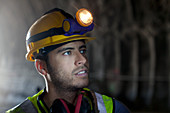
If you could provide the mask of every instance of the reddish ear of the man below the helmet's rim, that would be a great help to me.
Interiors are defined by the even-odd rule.
[[[45,61],[40,60],[40,59],[36,59],[35,60],[35,67],[41,75],[47,75],[47,66],[46,66]]]

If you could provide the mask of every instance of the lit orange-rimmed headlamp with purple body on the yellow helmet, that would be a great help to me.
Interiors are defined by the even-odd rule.
[[[87,9],[79,9],[75,19],[65,19],[63,21],[63,29],[65,35],[84,34],[93,30],[93,16]]]

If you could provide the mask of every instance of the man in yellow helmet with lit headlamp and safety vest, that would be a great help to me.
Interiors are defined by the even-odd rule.
[[[117,100],[86,88],[86,43],[94,38],[84,34],[93,26],[86,9],[80,9],[74,19],[56,8],[30,27],[26,59],[35,62],[46,87],[7,113],[129,113]]]

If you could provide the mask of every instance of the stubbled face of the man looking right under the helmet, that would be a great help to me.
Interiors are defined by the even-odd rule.
[[[57,89],[77,90],[88,86],[89,64],[84,42],[70,42],[51,51],[47,68]]]

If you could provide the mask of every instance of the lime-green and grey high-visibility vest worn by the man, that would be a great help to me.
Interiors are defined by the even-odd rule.
[[[43,90],[34,95],[33,97],[28,97],[23,103],[18,106],[8,110],[6,113],[42,113],[38,107],[37,98],[41,95]],[[113,99],[106,95],[101,95],[99,93],[94,93],[97,100],[97,108],[99,113],[113,113]],[[44,107],[45,108],[45,107]],[[45,110],[46,111],[46,110]],[[48,111],[47,111],[48,113]]]

